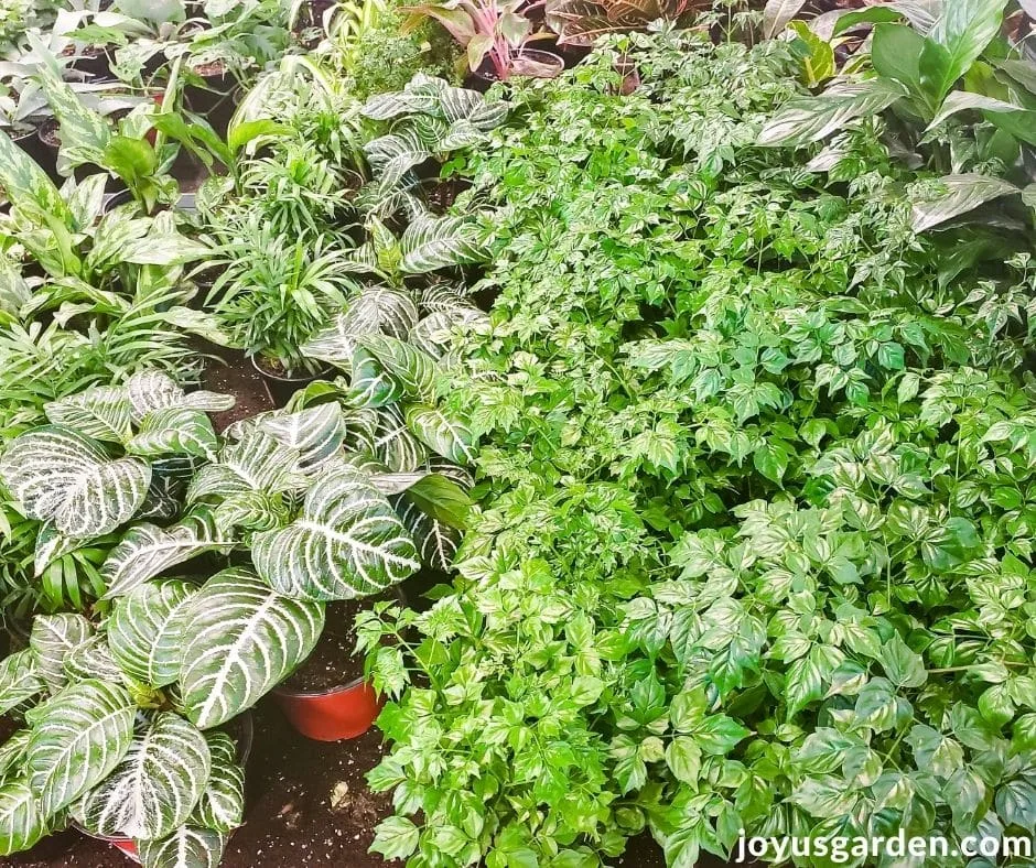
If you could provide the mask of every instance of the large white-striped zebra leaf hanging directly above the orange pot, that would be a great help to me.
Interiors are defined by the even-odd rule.
[[[413,540],[385,495],[348,466],[313,486],[298,521],[257,534],[252,561],[280,593],[316,600],[366,597],[420,568]]]

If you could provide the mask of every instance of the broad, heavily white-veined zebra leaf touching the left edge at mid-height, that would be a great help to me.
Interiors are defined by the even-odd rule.
[[[11,443],[0,459],[0,478],[29,518],[87,539],[133,517],[148,493],[151,468],[137,458],[111,460],[82,434],[45,425]]]

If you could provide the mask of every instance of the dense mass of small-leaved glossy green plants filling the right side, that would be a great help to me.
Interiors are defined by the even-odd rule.
[[[377,848],[1029,833],[1032,231],[915,231],[877,117],[823,167],[759,148],[801,93],[780,43],[618,51],[636,94],[608,51],[518,87],[468,169],[501,206],[451,391],[484,507],[455,588],[365,627],[416,628],[421,673]]]

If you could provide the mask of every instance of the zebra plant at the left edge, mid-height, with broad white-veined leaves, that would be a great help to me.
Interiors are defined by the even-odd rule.
[[[14,438],[0,457],[14,506],[41,523],[36,574],[134,517],[168,517],[171,476],[215,456],[206,413],[233,404],[228,395],[186,393],[159,371],[47,404],[51,424]]]

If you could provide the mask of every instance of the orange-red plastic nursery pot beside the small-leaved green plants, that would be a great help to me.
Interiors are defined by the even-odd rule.
[[[402,589],[397,587],[395,592],[399,601],[406,606],[407,597]],[[359,738],[374,726],[385,704],[363,676],[327,691],[274,687],[272,695],[289,723],[314,741]]]

